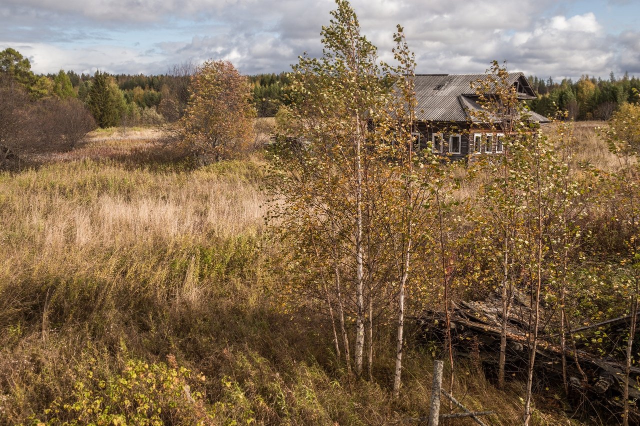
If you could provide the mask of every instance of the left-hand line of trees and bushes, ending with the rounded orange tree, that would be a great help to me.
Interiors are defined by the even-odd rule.
[[[126,130],[138,123],[161,127],[163,141],[180,155],[226,158],[262,145],[268,134],[253,120],[252,89],[228,61],[186,61],[161,76],[100,70],[92,77],[63,70],[47,76],[33,74],[27,58],[5,49],[0,52],[2,158],[73,149],[96,126]]]

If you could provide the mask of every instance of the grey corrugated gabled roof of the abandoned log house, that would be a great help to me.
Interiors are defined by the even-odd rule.
[[[472,83],[486,79],[486,74],[416,74],[414,79],[417,119],[429,122],[467,122],[469,110],[480,109]],[[522,72],[509,74],[518,99],[534,99],[536,94]],[[541,123],[547,118],[531,112],[531,120]],[[474,120],[475,121],[475,120]]]

